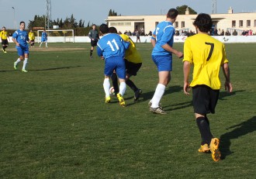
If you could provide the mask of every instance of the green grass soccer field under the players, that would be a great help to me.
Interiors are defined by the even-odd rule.
[[[178,50],[182,43],[176,43]],[[105,104],[104,61],[88,59],[89,43],[30,49],[29,73],[13,70],[14,44],[0,52],[0,178],[255,178],[255,43],[226,44],[234,92],[223,88],[209,115],[223,159],[199,153],[199,130],[183,94],[182,60],[175,57],[161,103],[149,112],[157,85],[150,43],[137,43],[144,64],[126,89],[126,108]],[[221,71],[222,72],[222,71]],[[223,82],[223,74],[220,74]]]

